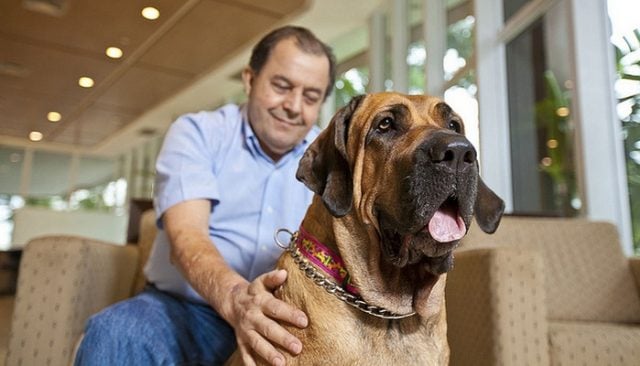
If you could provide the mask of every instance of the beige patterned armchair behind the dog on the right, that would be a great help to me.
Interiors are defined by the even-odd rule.
[[[639,287],[614,225],[472,227],[447,279],[451,365],[640,365]]]

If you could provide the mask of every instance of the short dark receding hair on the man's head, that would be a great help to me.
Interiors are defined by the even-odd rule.
[[[260,73],[262,67],[269,59],[271,50],[273,50],[280,41],[289,38],[295,38],[298,48],[306,53],[313,55],[324,54],[327,56],[329,60],[329,85],[327,85],[324,93],[326,99],[333,91],[333,84],[336,81],[336,57],[333,55],[331,47],[316,38],[307,28],[287,25],[271,31],[253,47],[251,58],[249,59],[249,67],[251,67],[256,74]]]

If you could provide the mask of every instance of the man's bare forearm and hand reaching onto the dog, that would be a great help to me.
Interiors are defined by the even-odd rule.
[[[231,269],[209,237],[210,210],[208,200],[191,200],[165,212],[163,223],[171,243],[171,261],[234,328],[245,365],[254,365],[256,354],[273,365],[284,365],[284,357],[273,344],[298,354],[302,343],[276,321],[301,328],[308,323],[304,312],[273,296],[287,274],[276,270],[248,282]]]

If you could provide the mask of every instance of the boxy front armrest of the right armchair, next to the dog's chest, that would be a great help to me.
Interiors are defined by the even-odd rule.
[[[542,257],[512,247],[460,251],[447,275],[451,365],[547,365]]]

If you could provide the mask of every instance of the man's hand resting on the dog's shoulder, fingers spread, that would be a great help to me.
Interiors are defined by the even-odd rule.
[[[235,329],[244,365],[255,365],[255,355],[272,365],[284,365],[284,356],[274,345],[292,354],[302,351],[300,340],[277,322],[284,321],[299,328],[308,324],[304,312],[273,296],[273,291],[286,279],[285,270],[274,270],[251,283],[237,284],[231,290],[224,317]]]

